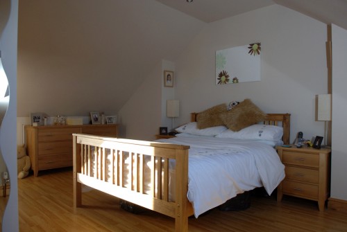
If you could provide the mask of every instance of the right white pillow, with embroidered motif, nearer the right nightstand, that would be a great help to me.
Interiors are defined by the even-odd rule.
[[[255,124],[246,127],[238,132],[226,130],[218,134],[217,138],[230,139],[246,139],[246,140],[266,140],[266,141],[281,141],[283,136],[283,127],[276,125]]]

